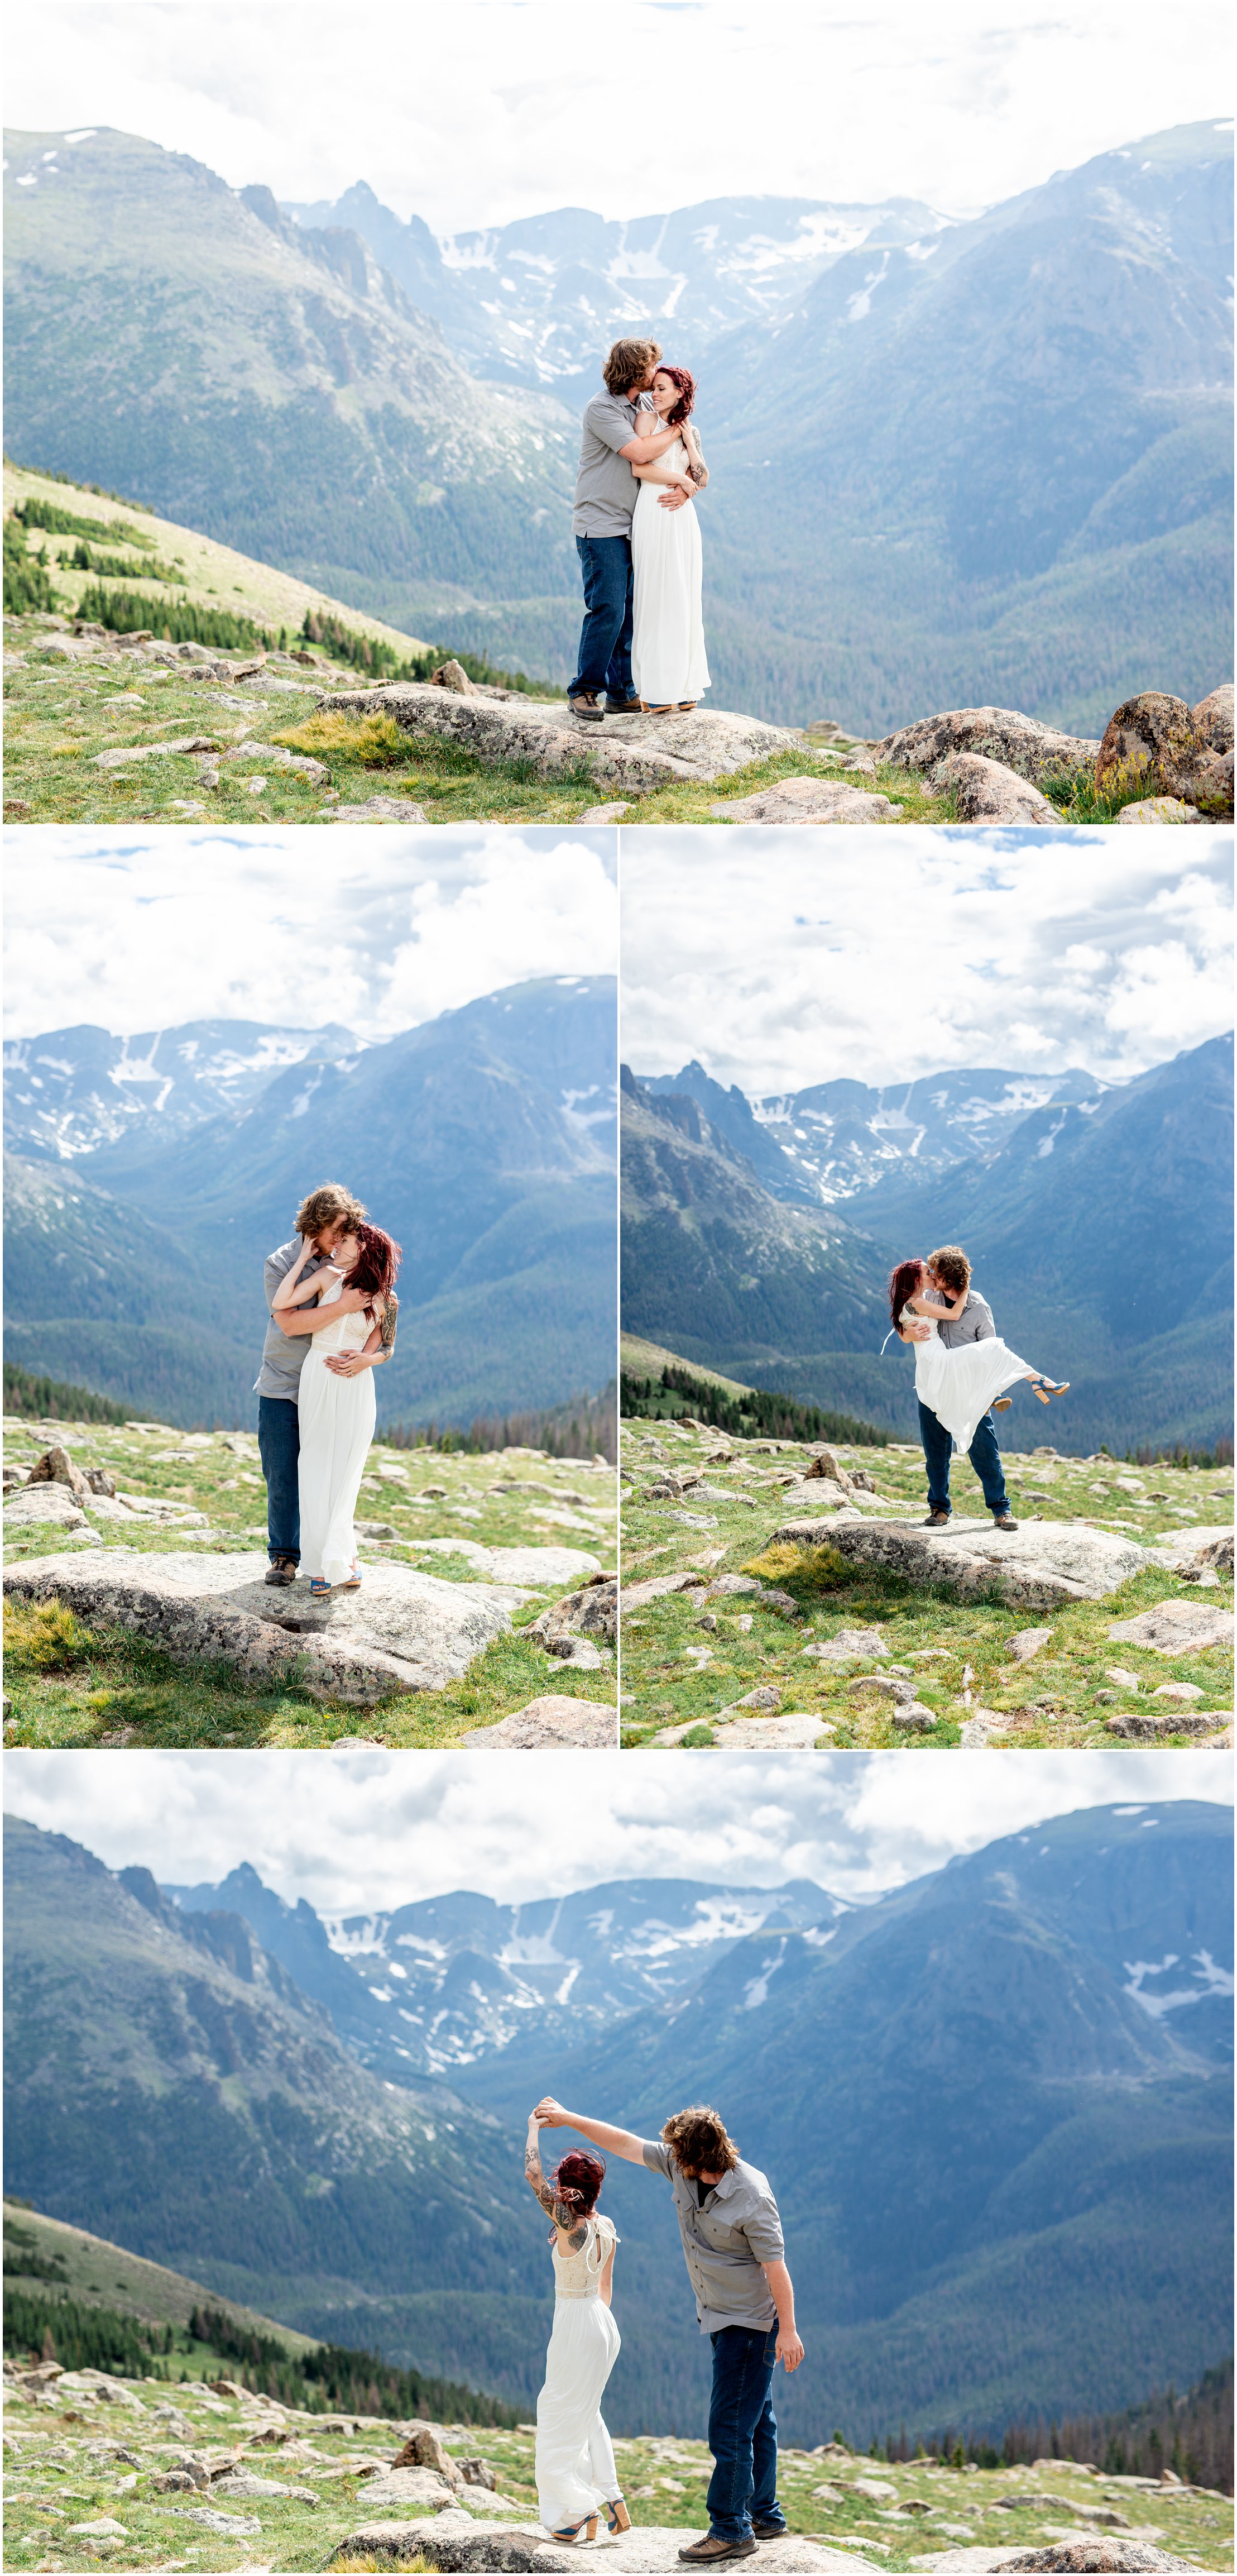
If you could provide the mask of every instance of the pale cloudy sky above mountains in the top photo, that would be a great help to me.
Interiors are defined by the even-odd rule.
[[[121,126],[235,188],[356,178],[436,232],[554,206],[920,196],[974,214],[1093,152],[1229,113],[1229,10],[1124,0],[39,0],[8,121]]]

